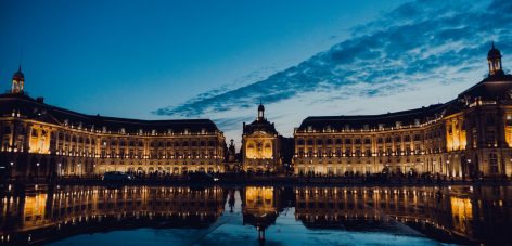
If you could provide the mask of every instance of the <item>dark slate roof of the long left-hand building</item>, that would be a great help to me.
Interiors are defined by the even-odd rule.
[[[42,100],[35,100],[23,93],[0,94],[0,116],[10,116],[13,109],[20,111],[21,115],[29,119],[44,121],[54,125],[82,126],[88,129],[94,127],[107,131],[118,131],[121,128],[125,132],[137,132],[139,130],[166,132],[171,129],[174,132],[183,132],[188,129],[194,132],[217,132],[217,126],[209,119],[170,119],[170,120],[143,120],[106,117],[100,115],[87,115],[65,108],[44,104]]]

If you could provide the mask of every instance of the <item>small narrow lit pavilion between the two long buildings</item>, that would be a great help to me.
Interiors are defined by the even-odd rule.
[[[259,104],[258,117],[252,124],[243,124],[242,166],[248,172],[276,172],[281,166],[281,135],[273,124],[265,118],[265,107]]]

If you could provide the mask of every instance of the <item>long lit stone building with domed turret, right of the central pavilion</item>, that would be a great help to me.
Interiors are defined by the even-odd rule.
[[[489,75],[445,104],[308,117],[294,131],[296,174],[512,176],[512,76],[494,44]]]

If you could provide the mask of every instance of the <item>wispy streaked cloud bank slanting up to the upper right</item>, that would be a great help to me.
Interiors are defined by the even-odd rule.
[[[254,83],[199,94],[155,114],[222,118],[222,127],[236,129],[236,120],[251,118],[255,104],[263,100],[274,108],[286,105],[281,113],[293,117],[280,121],[293,129],[299,125],[292,121],[297,115],[353,112],[338,108],[349,101],[422,93],[428,83],[474,83],[486,74],[490,40],[505,55],[512,52],[511,29],[509,0],[413,1],[354,27],[351,38],[296,66]],[[503,64],[512,65],[507,59]],[[363,103],[357,108],[364,112]]]

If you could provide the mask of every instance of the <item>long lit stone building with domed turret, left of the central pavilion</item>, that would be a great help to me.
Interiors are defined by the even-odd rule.
[[[85,115],[26,95],[21,70],[12,83],[0,95],[0,161],[10,177],[223,171],[225,137],[212,120]]]

